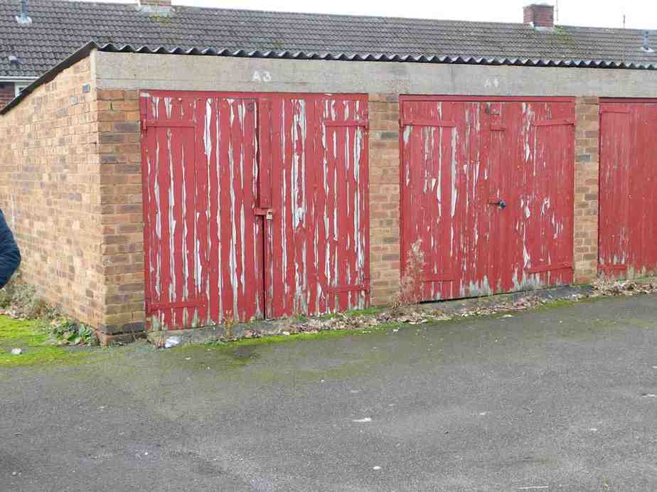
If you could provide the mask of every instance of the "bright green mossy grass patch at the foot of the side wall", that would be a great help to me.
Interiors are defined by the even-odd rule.
[[[23,353],[14,355],[12,348]],[[19,321],[0,316],[0,367],[53,363],[80,363],[89,353],[73,352],[50,344],[50,336],[38,321]]]

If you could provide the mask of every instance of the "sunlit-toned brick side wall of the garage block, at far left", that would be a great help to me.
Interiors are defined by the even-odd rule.
[[[0,116],[0,207],[27,282],[50,303],[102,319],[94,80],[85,59]]]

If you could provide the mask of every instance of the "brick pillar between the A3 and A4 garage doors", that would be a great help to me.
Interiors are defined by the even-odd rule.
[[[400,286],[399,98],[370,94],[370,285],[373,305]]]

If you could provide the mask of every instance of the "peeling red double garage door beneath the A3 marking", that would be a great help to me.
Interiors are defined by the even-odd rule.
[[[150,92],[141,112],[152,327],[366,306],[366,97]]]

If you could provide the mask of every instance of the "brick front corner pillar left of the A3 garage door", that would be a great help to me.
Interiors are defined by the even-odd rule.
[[[105,312],[102,331],[144,329],[144,216],[139,92],[99,90],[100,203]]]

